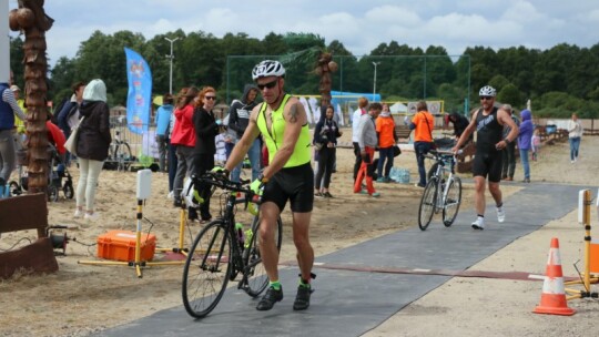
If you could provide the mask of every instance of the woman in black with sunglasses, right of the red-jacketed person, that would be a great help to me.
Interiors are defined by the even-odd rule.
[[[214,167],[214,154],[216,143],[214,137],[219,134],[221,120],[214,118],[212,109],[216,101],[216,91],[212,86],[205,86],[197,94],[197,105],[193,113],[193,126],[195,129],[194,167],[195,175],[201,176],[206,171]],[[200,216],[202,222],[212,218],[210,214],[210,186],[199,186],[200,196],[204,200],[200,204]]]

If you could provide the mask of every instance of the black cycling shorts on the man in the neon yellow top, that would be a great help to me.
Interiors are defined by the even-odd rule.
[[[295,213],[312,212],[314,206],[314,171],[311,163],[281,168],[264,186],[262,202],[273,202],[283,212],[290,201]]]

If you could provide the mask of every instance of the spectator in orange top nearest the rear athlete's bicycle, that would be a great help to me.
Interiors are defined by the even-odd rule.
[[[433,146],[433,129],[435,127],[435,119],[428,112],[428,106],[425,101],[416,103],[416,114],[412,119],[409,129],[416,130],[414,134],[414,153],[416,154],[416,162],[418,163],[418,174],[420,180],[416,183],[416,186],[426,186],[426,171],[425,171],[425,154],[430,151]]]

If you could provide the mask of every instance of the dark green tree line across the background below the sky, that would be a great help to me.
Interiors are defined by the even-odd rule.
[[[260,40],[245,33],[216,38],[181,29],[149,40],[131,31],[93,32],[81,42],[74,58],[50,60],[54,65],[49,73],[49,100],[58,102],[69,96],[74,82],[100,78],[109,89],[109,103],[124,105],[124,47],[148,61],[154,94],[166,93],[171,43],[165,38],[179,38],[173,43],[173,91],[211,85],[224,103],[241,96],[244,84],[251,82],[253,65],[265,58],[285,64],[290,92],[318,94],[319,78],[313,70],[319,52],[328,51],[338,64],[333,73],[336,91],[372,93],[375,62],[376,93],[388,102],[443,100],[445,111],[465,111],[478,104],[478,89],[490,84],[498,89],[498,101],[517,109],[524,109],[530,100],[536,116],[568,118],[573,111],[583,119],[599,116],[599,43],[591,48],[562,43],[547,50],[473,47],[461,55],[448,55],[439,45],[423,50],[390,41],[367,55],[353,55],[341,41],[326,44],[312,33],[271,32]],[[22,45],[20,37],[11,39],[10,63],[17,83],[23,83]]]

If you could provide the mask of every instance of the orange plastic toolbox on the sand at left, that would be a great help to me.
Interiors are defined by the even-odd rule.
[[[135,261],[135,232],[110,231],[98,236],[98,257],[115,261]],[[152,261],[156,248],[156,236],[141,234],[140,261]]]

